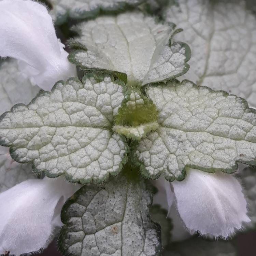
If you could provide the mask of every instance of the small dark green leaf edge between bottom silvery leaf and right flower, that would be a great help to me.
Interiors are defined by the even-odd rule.
[[[165,248],[171,242],[172,220],[167,217],[168,212],[161,208],[159,204],[152,205],[150,208],[150,216],[154,222],[161,226],[161,243]]]

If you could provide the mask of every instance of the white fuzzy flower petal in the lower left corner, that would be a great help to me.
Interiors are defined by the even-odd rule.
[[[80,185],[65,179],[27,180],[0,194],[0,254],[45,248],[59,225],[63,203]],[[58,224],[59,223],[59,224]]]

